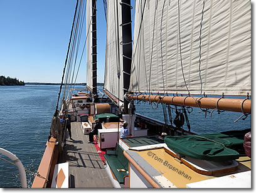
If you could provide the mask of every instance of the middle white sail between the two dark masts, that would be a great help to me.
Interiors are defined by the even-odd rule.
[[[118,10],[117,10],[118,9]],[[104,88],[123,100],[122,22],[120,0],[107,2],[107,44],[105,55]],[[117,73],[120,72],[120,81]]]

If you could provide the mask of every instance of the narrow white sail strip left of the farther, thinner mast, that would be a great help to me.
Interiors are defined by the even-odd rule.
[[[92,88],[92,1],[86,2],[87,86]]]

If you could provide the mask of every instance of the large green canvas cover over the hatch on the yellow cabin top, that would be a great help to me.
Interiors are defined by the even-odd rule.
[[[228,147],[242,145],[248,130],[210,133],[205,135],[167,136],[164,142],[177,154],[195,159],[222,162],[239,158],[239,153]],[[228,147],[227,147],[228,146]]]

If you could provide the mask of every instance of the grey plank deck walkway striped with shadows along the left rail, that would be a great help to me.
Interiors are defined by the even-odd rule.
[[[60,162],[69,163],[70,187],[113,187],[93,143],[83,135],[79,122],[71,123],[72,139],[67,139]]]

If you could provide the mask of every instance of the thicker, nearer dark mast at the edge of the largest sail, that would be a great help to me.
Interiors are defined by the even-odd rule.
[[[132,21],[131,21],[131,0],[121,0],[122,6],[122,60],[124,77],[124,95],[130,86],[131,61],[132,61]],[[128,101],[124,98],[124,114],[128,114]]]

